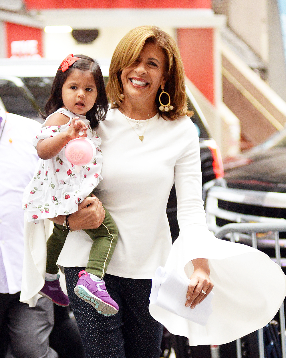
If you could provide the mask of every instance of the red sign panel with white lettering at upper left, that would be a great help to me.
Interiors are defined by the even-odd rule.
[[[17,57],[43,57],[43,30],[23,26],[18,24],[6,23],[7,33],[7,57],[11,57],[11,43],[14,43],[14,56]]]

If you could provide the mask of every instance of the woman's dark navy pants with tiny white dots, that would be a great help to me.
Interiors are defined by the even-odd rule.
[[[119,311],[103,316],[74,294],[79,271],[66,267],[70,305],[87,358],[159,358],[163,326],[149,314],[151,279],[127,279],[106,274],[105,285]]]

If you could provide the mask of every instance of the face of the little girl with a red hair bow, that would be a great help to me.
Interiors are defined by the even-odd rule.
[[[74,69],[61,89],[61,99],[69,111],[86,115],[97,98],[97,88],[90,71]]]

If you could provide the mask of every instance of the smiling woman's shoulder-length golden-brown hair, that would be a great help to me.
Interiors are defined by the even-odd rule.
[[[175,40],[166,32],[156,26],[139,26],[130,30],[118,43],[114,50],[110,67],[109,80],[106,91],[111,102],[111,108],[120,107],[122,98],[121,72],[124,68],[131,66],[139,57],[140,52],[147,43],[158,45],[166,56],[166,84],[164,91],[171,97],[172,111],[162,112],[167,120],[176,120],[184,115],[192,115],[188,111],[185,89],[184,67]],[[159,110],[159,95],[162,89],[158,89],[156,104]]]

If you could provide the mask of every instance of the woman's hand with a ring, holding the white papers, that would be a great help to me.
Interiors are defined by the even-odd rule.
[[[194,272],[190,277],[191,282],[189,283],[187,292],[186,306],[195,308],[196,305],[201,303],[203,299],[207,297],[209,292],[211,292],[213,284],[209,279],[210,270],[208,260],[206,258],[196,258],[192,260],[192,263]],[[202,290],[206,292],[206,294],[204,294]]]

